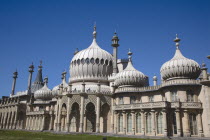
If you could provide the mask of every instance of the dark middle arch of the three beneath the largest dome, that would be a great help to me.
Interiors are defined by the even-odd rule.
[[[96,131],[96,112],[93,103],[88,103],[86,106],[86,132]]]

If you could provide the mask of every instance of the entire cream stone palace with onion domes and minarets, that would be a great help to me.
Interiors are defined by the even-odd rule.
[[[112,38],[113,54],[93,42],[75,51],[70,62],[70,78],[62,73],[61,84],[52,90],[43,81],[42,64],[28,88],[15,93],[18,72],[14,72],[12,92],[0,99],[0,128],[95,132],[124,135],[210,137],[210,76],[184,57],[176,36],[174,57],[160,69],[161,82],[136,70],[132,52],[118,59],[119,39]]]

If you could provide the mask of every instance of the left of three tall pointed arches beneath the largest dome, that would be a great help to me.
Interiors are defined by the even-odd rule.
[[[70,132],[79,132],[79,120],[80,112],[79,112],[79,104],[74,103],[71,108],[70,113]]]

